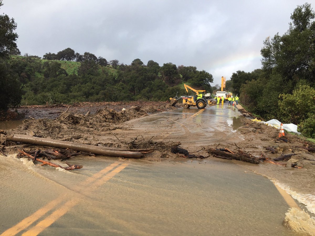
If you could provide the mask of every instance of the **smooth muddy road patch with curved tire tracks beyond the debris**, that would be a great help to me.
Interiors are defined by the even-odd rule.
[[[168,117],[165,115],[152,115],[141,117],[133,121],[126,121],[128,130],[115,130],[118,135],[135,138],[142,135],[145,139],[155,141],[181,142],[185,146],[206,146],[214,143],[234,143],[240,137],[227,126],[225,120],[216,123],[200,124],[195,121],[197,116]],[[201,115],[201,114],[200,114]],[[200,117],[200,116],[199,116]],[[203,118],[205,119],[205,118]],[[205,119],[205,121],[207,121]],[[220,126],[222,127],[220,128]]]

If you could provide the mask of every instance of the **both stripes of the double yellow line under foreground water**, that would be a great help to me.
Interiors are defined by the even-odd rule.
[[[103,170],[87,178],[85,181],[83,181],[82,184],[78,185],[74,190],[78,191],[82,189],[82,187],[83,188],[89,187],[89,192],[96,190],[98,187],[100,187],[102,184],[110,180],[118,172],[122,171],[126,166],[128,166],[128,164],[126,163],[123,163],[121,165],[120,164],[121,162],[119,161],[112,163],[110,166],[107,166]],[[115,167],[117,168],[114,169]],[[106,174],[107,172],[109,173]],[[26,228],[31,226],[31,224],[37,221],[40,217],[44,216],[47,212],[51,211],[54,207],[59,205],[64,199],[65,199],[65,196],[60,196],[50,201],[49,203],[44,205],[42,208],[34,212],[31,216],[26,217],[21,222],[17,223],[15,226],[4,231],[0,236],[16,235],[22,230],[25,230]],[[58,209],[53,211],[49,216],[45,217],[42,221],[38,222],[35,226],[27,230],[22,235],[23,236],[37,235],[41,233],[44,229],[48,228],[52,223],[57,221],[61,216],[65,215],[73,206],[77,205],[79,201],[80,199],[78,198],[73,198],[73,199],[68,200],[66,203],[61,205]]]

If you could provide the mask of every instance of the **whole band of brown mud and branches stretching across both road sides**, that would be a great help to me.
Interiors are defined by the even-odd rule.
[[[187,137],[189,131],[176,119],[172,121],[164,120],[162,123],[172,129],[170,123],[175,124],[177,122],[177,126],[182,127],[185,134],[176,138],[170,136],[169,140],[161,138],[158,133],[158,126],[161,122],[150,124],[155,126],[154,128],[157,131],[151,130],[151,127],[147,130],[144,125],[140,127],[141,129],[139,127],[136,129],[133,126],[135,119],[176,108],[176,106],[172,107],[167,102],[73,104],[71,106],[60,105],[54,107],[31,106],[28,108],[31,119],[23,121],[22,125],[13,130],[0,130],[0,148],[3,153],[17,153],[18,149],[26,151],[43,149],[43,147],[36,145],[12,142],[6,139],[7,135],[21,134],[108,148],[152,149],[154,152],[147,153],[144,158],[155,161],[181,160],[187,157],[215,158],[218,157],[219,152],[214,154],[213,150],[228,149],[238,157],[242,156],[243,160],[251,159],[252,163],[268,161],[270,163],[287,164],[289,162],[295,168],[315,167],[315,145],[290,133],[285,133],[285,137],[278,138],[275,128],[246,118],[252,114],[243,108],[239,108],[239,110],[242,111],[242,114],[248,115],[244,115],[243,118],[240,117],[243,126],[237,129],[237,135],[243,137],[243,140],[239,139],[237,142],[231,142],[228,136],[224,136],[224,134],[220,134],[219,130],[215,130],[215,135],[222,135],[224,140],[219,143],[204,143],[202,149],[200,149],[200,143],[198,143],[199,146],[189,146],[187,143],[181,145],[180,140]],[[21,109],[25,110],[26,108]],[[45,111],[45,114],[43,111]],[[39,116],[40,118],[38,118]],[[194,136],[190,137],[194,138]],[[192,154],[197,149],[200,149],[198,153]],[[181,150],[186,150],[187,153],[183,153]],[[283,160],[277,159],[282,158],[283,155],[286,155]],[[292,158],[288,158],[289,155],[292,155]]]

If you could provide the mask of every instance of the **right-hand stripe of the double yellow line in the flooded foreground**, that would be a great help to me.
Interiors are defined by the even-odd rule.
[[[99,179],[97,182],[95,182],[92,186],[90,191],[95,190],[97,187],[99,187],[101,184],[105,183],[106,181],[110,180],[113,176],[115,176],[118,172],[122,171],[128,164],[122,164],[118,166],[116,169],[108,173],[106,176]],[[48,228],[52,223],[54,223],[56,220],[58,220],[61,216],[66,214],[73,206],[77,205],[79,202],[79,199],[72,199],[67,201],[64,205],[62,205],[59,209],[55,210],[53,213],[51,213],[49,216],[47,216],[45,219],[43,219],[41,222],[39,222],[37,225],[26,231],[22,234],[22,236],[33,236],[41,233],[43,230]]]

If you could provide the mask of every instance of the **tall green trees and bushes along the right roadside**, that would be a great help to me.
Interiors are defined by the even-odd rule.
[[[251,113],[266,120],[298,125],[306,137],[315,137],[315,13],[311,4],[291,14],[288,31],[267,37],[262,68],[237,71],[231,77],[234,93]]]

